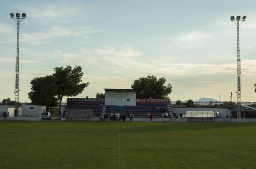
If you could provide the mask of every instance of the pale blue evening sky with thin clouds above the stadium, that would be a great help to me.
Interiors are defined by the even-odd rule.
[[[165,77],[172,100],[236,101],[236,25],[240,25],[241,100],[256,101],[255,0],[1,0],[0,101],[14,100],[17,24],[20,23],[20,101],[30,81],[55,67],[80,65],[90,85],[131,88],[147,75]]]

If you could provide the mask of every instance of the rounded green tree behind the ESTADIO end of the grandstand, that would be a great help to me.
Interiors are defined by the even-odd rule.
[[[164,85],[166,79],[164,77],[157,79],[156,76],[141,77],[134,80],[131,84],[132,89],[136,89],[136,97],[138,99],[145,99],[152,97],[153,99],[167,99],[168,95],[172,93],[172,85]]]

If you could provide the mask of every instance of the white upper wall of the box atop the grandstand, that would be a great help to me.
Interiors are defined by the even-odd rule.
[[[136,92],[105,92],[105,105],[136,106]]]

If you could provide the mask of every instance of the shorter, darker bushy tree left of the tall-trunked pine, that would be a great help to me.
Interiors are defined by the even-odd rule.
[[[56,95],[55,78],[50,76],[36,77],[31,80],[31,92],[29,92],[29,99],[31,104],[44,105],[47,111],[49,107],[56,107],[58,105],[58,98]]]

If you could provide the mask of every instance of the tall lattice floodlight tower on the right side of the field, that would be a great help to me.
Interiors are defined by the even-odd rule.
[[[240,60],[240,42],[239,42],[239,26],[245,21],[246,16],[231,16],[230,20],[236,24],[236,40],[237,40],[237,118],[241,118],[241,60]]]

